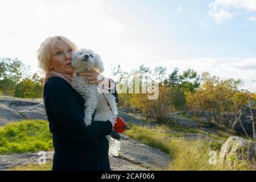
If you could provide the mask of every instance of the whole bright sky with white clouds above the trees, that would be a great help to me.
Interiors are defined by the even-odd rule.
[[[63,35],[91,48],[103,75],[144,64],[241,78],[256,92],[256,0],[41,0],[0,2],[0,57],[40,73],[36,51]]]

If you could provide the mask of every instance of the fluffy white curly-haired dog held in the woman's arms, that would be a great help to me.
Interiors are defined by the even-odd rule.
[[[76,73],[88,72],[90,69],[97,69],[99,73],[104,72],[101,57],[91,49],[82,48],[74,52],[72,56],[72,66]],[[94,111],[94,121],[109,120],[112,123],[115,122],[115,115],[118,114],[117,103],[115,102],[113,94],[109,93],[109,90],[106,92],[107,90],[101,88],[101,86],[104,86],[103,84],[89,85],[86,84],[84,77],[74,76],[71,85],[85,100],[84,122],[86,126],[91,124]],[[112,110],[110,110],[106,99]],[[110,135],[107,135],[106,138],[109,140],[109,155],[118,156],[120,142],[110,137]]]

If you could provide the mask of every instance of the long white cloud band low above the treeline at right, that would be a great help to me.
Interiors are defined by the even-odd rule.
[[[166,60],[162,63],[167,67],[168,71],[178,68],[179,72],[183,72],[189,68],[201,74],[209,72],[211,75],[220,77],[221,80],[228,78],[238,79],[243,82],[241,89],[248,89],[256,92],[256,57],[248,59],[221,59],[221,58],[204,58],[191,60]]]

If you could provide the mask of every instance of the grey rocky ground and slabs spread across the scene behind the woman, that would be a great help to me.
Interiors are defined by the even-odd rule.
[[[245,110],[245,108],[243,109]],[[153,130],[155,126],[158,126],[158,124],[154,122],[154,116],[141,114],[140,111],[137,109],[119,108],[118,113],[119,116],[121,116],[125,121],[130,123],[148,126]],[[209,116],[212,116],[213,113],[202,111],[200,113],[199,119],[191,119],[191,116],[193,116],[194,114],[195,113],[191,111],[187,113],[187,117],[184,117],[181,111],[177,111],[175,113],[168,114],[165,120],[170,121],[179,127],[183,127],[183,129],[196,129],[197,131],[202,131],[203,134],[202,132],[167,132],[174,134],[177,137],[182,137],[184,139],[201,138],[207,140],[214,140],[216,137],[220,137],[218,136],[218,133],[215,129],[212,129],[206,124],[208,122],[207,119],[209,118]],[[183,116],[181,117],[181,115]],[[244,116],[240,114],[239,117],[242,119],[242,117]],[[0,127],[10,122],[20,121],[20,119],[47,120],[43,100],[0,97]],[[236,127],[239,126],[236,125]],[[225,140],[222,142],[224,143]],[[224,146],[228,146],[228,144],[224,144]],[[225,157],[227,155],[227,150],[224,150],[224,148],[225,147],[222,147],[222,151],[224,151],[222,152],[222,155]],[[234,150],[236,150],[236,148]],[[52,161],[52,156],[53,151],[47,151],[47,162]],[[39,157],[40,156],[37,152],[0,155],[0,170],[8,170],[8,168],[10,167],[23,166],[27,164],[38,164]],[[110,164],[113,171],[163,170],[164,168],[169,166],[171,161],[172,159],[166,153],[155,148],[146,146],[145,144],[142,144],[137,140],[131,139],[124,134],[122,134],[121,151],[119,152],[119,156],[110,156]]]

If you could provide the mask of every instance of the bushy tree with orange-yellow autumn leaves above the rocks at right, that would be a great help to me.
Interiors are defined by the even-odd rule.
[[[226,125],[227,123],[221,121],[221,111],[228,111],[229,114],[245,104],[244,98],[241,100],[244,96],[237,90],[241,83],[241,80],[233,78],[223,81],[204,72],[201,75],[200,88],[196,92],[185,93],[187,105],[194,110],[213,111],[215,124],[218,126],[222,122],[222,125]]]

